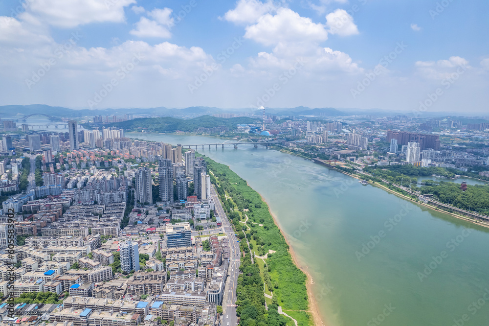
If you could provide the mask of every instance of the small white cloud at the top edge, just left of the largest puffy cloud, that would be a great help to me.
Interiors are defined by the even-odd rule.
[[[236,8],[224,14],[224,19],[238,24],[256,23],[261,16],[274,11],[275,6],[270,0],[265,3],[259,0],[239,0]]]

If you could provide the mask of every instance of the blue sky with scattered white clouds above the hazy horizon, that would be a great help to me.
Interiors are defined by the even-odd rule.
[[[489,112],[487,0],[2,0],[0,105]]]

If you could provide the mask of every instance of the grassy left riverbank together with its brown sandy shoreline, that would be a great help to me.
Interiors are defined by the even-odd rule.
[[[212,172],[211,182],[216,185],[216,191],[221,198],[224,210],[234,210],[229,214],[232,223],[241,225],[238,211],[247,210],[246,216],[250,219],[248,224],[250,230],[249,233],[246,231],[246,237],[250,243],[255,243],[253,251],[260,254],[273,251],[273,254],[268,254],[265,260],[266,266],[261,266],[260,269],[269,278],[268,288],[273,291],[276,304],[279,304],[284,311],[296,319],[300,326],[309,326],[312,323],[317,326],[324,325],[317,312],[317,304],[313,302],[310,275],[300,268],[297,256],[291,250],[279,228],[277,219],[271,213],[263,197],[229,166],[217,163],[208,157],[204,158],[208,170]],[[230,200],[227,199],[228,197]],[[263,293],[263,286],[260,291]],[[253,295],[248,297],[248,294],[242,293],[238,299],[242,303],[240,307],[244,310],[249,305],[246,302],[255,302],[257,298]],[[257,315],[255,322],[259,322],[261,318],[260,315]]]

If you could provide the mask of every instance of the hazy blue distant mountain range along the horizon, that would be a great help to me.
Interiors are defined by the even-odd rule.
[[[309,108],[307,106],[298,106],[295,108],[265,108],[267,115],[275,116],[352,116],[352,115],[378,115],[378,116],[393,116],[393,115],[406,115],[410,116],[411,112],[402,112],[398,110],[381,110],[381,109],[368,109],[360,110],[355,108]],[[112,115],[148,115],[148,116],[170,116],[178,118],[197,117],[205,115],[215,115],[222,113],[253,113],[257,116],[262,115],[261,110],[244,109],[220,109],[216,107],[206,106],[192,106],[184,109],[168,109],[165,107],[141,109],[103,109],[103,110],[73,110],[59,106],[49,106],[44,104],[32,104],[32,105],[4,105],[0,106],[0,118],[19,118],[22,116],[31,115],[34,113],[43,113],[48,116],[56,117],[70,117],[81,118],[84,116],[112,116]],[[467,113],[465,113],[467,115]],[[480,114],[479,114],[480,115]],[[425,116],[456,116],[453,112],[430,112]],[[474,114],[474,116],[478,116]]]

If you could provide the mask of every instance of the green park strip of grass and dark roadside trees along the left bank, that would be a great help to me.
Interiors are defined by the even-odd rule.
[[[246,238],[255,243],[254,251],[265,254],[268,250],[275,253],[268,254],[266,265],[260,266],[251,262],[251,253],[245,241],[240,241],[240,247],[245,253],[242,256],[240,270],[243,272],[238,280],[236,293],[238,300],[236,304],[238,316],[241,317],[240,325],[280,325],[284,326],[288,318],[278,315],[276,305],[282,306],[284,310],[309,310],[309,302],[306,288],[306,275],[295,266],[289,253],[289,245],[284,236],[275,225],[268,206],[263,202],[260,194],[246,184],[228,166],[205,157],[207,168],[211,171],[211,182],[216,185],[216,190],[221,197],[223,208],[230,212],[237,230],[244,226],[239,221],[244,219],[244,210],[247,209],[248,225],[251,230],[246,233]],[[226,195],[231,197],[226,199]],[[237,211],[235,211],[237,208]],[[260,223],[263,227],[258,224]],[[241,233],[241,232],[240,232]],[[241,234],[240,234],[241,237]],[[254,240],[254,241],[253,241]],[[252,248],[253,249],[253,248]],[[258,258],[255,258],[255,260]],[[260,267],[265,280],[272,286],[272,304],[265,310],[264,281],[260,276]],[[311,315],[305,312],[298,319],[299,325],[310,325]]]

